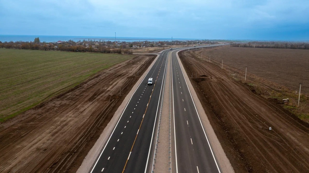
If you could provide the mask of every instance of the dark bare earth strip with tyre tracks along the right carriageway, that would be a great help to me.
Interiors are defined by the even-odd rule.
[[[309,125],[190,54],[180,59],[235,172],[308,172]],[[269,130],[272,127],[272,130]]]

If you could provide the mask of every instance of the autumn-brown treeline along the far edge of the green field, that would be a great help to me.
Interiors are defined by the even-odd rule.
[[[34,42],[0,42],[0,48],[6,49],[28,49],[28,50],[60,50],[70,52],[95,52],[95,53],[114,53],[114,54],[133,54],[132,50],[128,49],[110,49],[104,46],[83,46],[83,45],[70,45],[64,44],[52,44],[52,43],[34,43]]]

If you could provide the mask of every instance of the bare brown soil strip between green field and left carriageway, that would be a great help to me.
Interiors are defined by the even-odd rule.
[[[102,70],[0,124],[0,172],[76,172],[125,95],[156,55]],[[120,92],[121,88],[121,94]]]

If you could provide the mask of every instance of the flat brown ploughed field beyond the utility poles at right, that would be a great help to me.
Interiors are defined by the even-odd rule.
[[[198,51],[200,53],[200,50]],[[211,62],[218,62],[223,67],[235,67],[249,74],[255,74],[269,81],[286,86],[293,91],[309,95],[309,50],[275,49],[252,47],[220,47],[203,50],[203,57]],[[201,56],[201,55],[200,55]]]

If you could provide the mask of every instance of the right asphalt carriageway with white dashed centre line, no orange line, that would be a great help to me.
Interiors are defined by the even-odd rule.
[[[186,83],[190,81],[176,51],[171,56],[176,172],[220,172]]]

